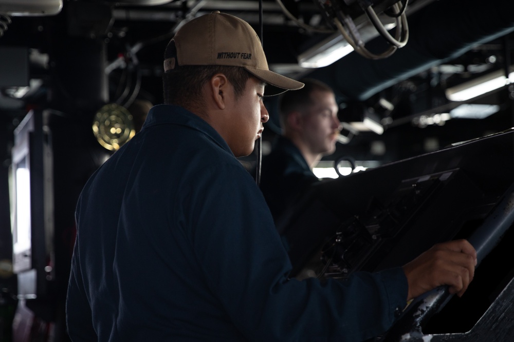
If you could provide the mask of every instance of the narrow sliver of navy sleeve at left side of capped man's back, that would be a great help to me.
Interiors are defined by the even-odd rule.
[[[78,221],[76,220],[76,222]],[[79,263],[79,234],[77,232],[66,296],[66,326],[68,335],[73,342],[98,340],[91,317],[91,308],[84,291]]]

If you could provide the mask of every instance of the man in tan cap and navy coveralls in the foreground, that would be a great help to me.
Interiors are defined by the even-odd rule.
[[[263,96],[303,84],[270,71],[250,25],[219,12],[180,28],[164,70],[166,104],[80,195],[71,340],[348,341],[388,329],[408,298],[403,270],[289,279],[266,202],[236,159],[262,133]]]

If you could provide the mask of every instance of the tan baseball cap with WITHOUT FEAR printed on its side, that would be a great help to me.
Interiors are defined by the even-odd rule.
[[[219,11],[194,18],[171,39],[164,53],[164,71],[185,65],[243,67],[273,86],[266,87],[266,95],[303,87],[303,83],[269,70],[261,41],[247,22]]]

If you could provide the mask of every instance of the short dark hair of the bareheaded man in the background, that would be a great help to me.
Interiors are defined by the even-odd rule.
[[[331,87],[314,78],[304,78],[300,82],[305,84],[302,89],[286,91],[280,97],[279,114],[282,126],[289,113],[303,111],[305,108],[313,105],[313,99],[310,94],[314,91],[334,92]]]

